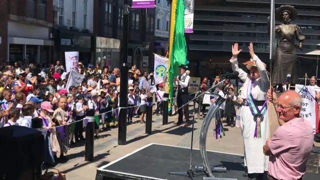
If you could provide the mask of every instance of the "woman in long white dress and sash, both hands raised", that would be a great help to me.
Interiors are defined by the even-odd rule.
[[[268,157],[263,154],[262,147],[269,138],[268,110],[266,93],[269,88],[269,78],[263,63],[253,52],[253,44],[249,45],[249,53],[253,64],[246,65],[250,73],[238,66],[238,44],[232,46],[232,70],[238,71],[238,77],[244,82],[241,90],[243,105],[240,112],[241,132],[244,144],[244,165],[247,167],[248,179],[259,180],[267,170]]]

